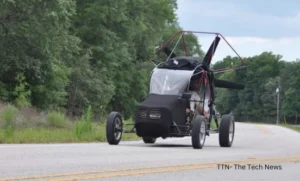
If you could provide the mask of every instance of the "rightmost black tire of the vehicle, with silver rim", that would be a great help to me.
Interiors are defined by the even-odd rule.
[[[234,139],[235,123],[233,115],[223,115],[219,128],[219,145],[221,147],[231,147]]]

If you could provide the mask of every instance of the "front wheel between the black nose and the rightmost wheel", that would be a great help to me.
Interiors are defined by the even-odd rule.
[[[205,143],[205,138],[206,138],[206,118],[204,116],[197,115],[192,122],[193,148],[202,149]]]

